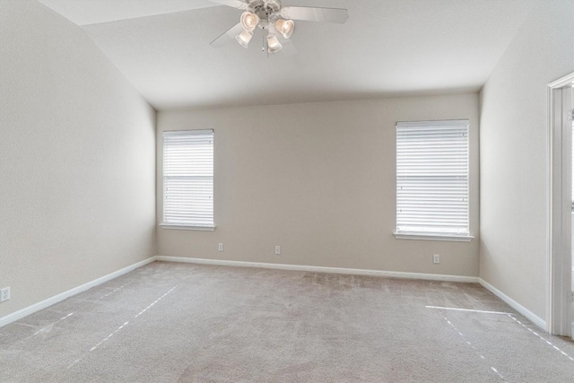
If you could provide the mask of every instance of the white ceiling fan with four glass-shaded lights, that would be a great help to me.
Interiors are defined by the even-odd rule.
[[[253,32],[259,28],[264,32],[263,50],[276,53],[289,42],[295,30],[295,20],[305,22],[337,22],[343,24],[349,18],[344,8],[319,8],[310,6],[283,6],[280,0],[211,0],[244,12],[239,22],[211,42],[221,47],[230,39],[236,39],[243,48],[248,48]]]

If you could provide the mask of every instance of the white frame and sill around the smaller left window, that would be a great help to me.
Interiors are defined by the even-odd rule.
[[[211,224],[205,223],[193,223],[193,222],[166,222],[166,179],[170,176],[166,176],[166,137],[169,136],[189,136],[189,135],[211,135],[212,144],[212,172],[211,172]],[[174,229],[174,230],[187,230],[187,231],[214,231],[215,225],[215,204],[214,204],[214,162],[215,162],[215,140],[214,140],[213,129],[189,129],[189,130],[166,130],[161,134],[162,137],[162,164],[161,164],[161,229]],[[191,176],[188,176],[191,177]]]

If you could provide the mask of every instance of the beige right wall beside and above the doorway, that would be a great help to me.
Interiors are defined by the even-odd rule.
[[[546,85],[574,71],[574,1],[532,11],[481,93],[480,275],[545,318]]]

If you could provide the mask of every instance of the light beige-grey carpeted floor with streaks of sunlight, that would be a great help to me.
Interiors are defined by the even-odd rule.
[[[0,381],[571,382],[574,344],[473,283],[156,262],[1,327]]]

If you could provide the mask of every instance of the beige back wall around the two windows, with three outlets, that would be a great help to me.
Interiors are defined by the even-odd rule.
[[[217,229],[159,230],[159,255],[477,276],[478,239],[392,234],[396,121],[456,118],[470,119],[471,232],[478,236],[477,94],[160,112],[158,219],[161,132],[213,129]]]

